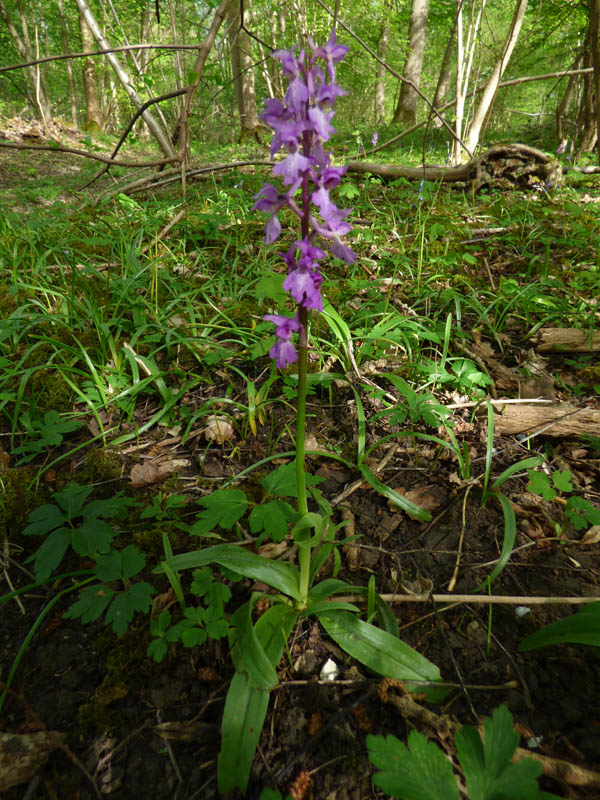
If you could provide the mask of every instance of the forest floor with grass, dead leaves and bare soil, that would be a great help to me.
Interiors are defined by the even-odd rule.
[[[280,290],[268,283],[269,271],[281,270],[276,248],[264,255],[262,215],[250,210],[266,171],[248,168],[191,185],[187,225],[157,241],[179,208],[176,189],[134,195],[133,202],[115,195],[95,206],[90,201],[112,185],[103,179],[73,202],[72,193],[96,171],[86,165],[82,176],[82,166],[54,154],[2,153],[0,162],[6,211],[0,674],[3,686],[10,684],[0,735],[38,735],[18,765],[19,785],[3,796],[217,797],[220,720],[234,674],[226,640],[172,644],[157,663],[147,655],[147,615],[136,615],[122,636],[102,619],[64,618],[75,599],[75,579],[65,575],[89,569],[89,559],[69,550],[54,581],[33,585],[27,559],[41,542],[22,531],[36,508],[74,481],[93,487],[90,499],[122,492],[135,500],[114,525],[115,543],[134,543],[147,559],[142,576],[156,590],[156,619],[165,608],[175,610],[166,577],[152,572],[164,558],[163,535],[175,552],[199,547],[189,534],[202,514],[199,501],[244,470],[233,485],[262,501],[256,476],[264,479],[273,464],[252,467],[293,449],[295,390],[288,369],[258,395],[262,406],[252,405],[272,374],[268,341],[262,342],[270,331],[261,317],[281,302]],[[285,796],[306,770],[307,798],[383,797],[371,782],[367,734],[406,741],[416,728],[452,755],[445,721],[477,725],[503,703],[522,746],[547,757],[540,786],[559,797],[597,798],[596,649],[519,650],[527,634],[576,607],[451,604],[429,596],[431,587],[462,595],[485,586],[507,536],[500,491],[515,512],[516,536],[506,566],[483,593],[600,596],[598,526],[573,525],[565,515],[570,496],[600,506],[597,352],[544,352],[533,336],[541,328],[599,328],[597,183],[581,181],[555,194],[491,189],[475,196],[465,187],[426,184],[417,198],[407,181],[352,180],[356,196],[350,190],[349,201],[339,204],[355,206],[359,263],[351,275],[331,267],[326,284],[348,321],[352,357],[347,341],[315,322],[313,368],[329,379],[311,385],[307,470],[321,479],[334,519],[344,509],[358,538],[340,546],[339,559],[325,569],[338,569],[337,577],[352,585],[367,586],[374,576],[384,595],[424,592],[422,600],[391,607],[400,637],[439,667],[451,692],[430,707],[439,716],[427,724],[424,713],[408,718],[380,677],[305,619],[278,667],[247,796],[258,798],[264,787]],[[127,347],[135,359],[122,355]],[[390,375],[401,376],[416,395],[403,393],[404,384]],[[117,400],[103,401],[111,381]],[[165,399],[165,384],[174,403]],[[498,407],[492,451],[488,408],[485,402],[475,408],[490,396],[515,400],[515,407],[527,398],[557,408],[568,403],[567,414],[599,416],[589,417],[583,431],[575,426],[560,436],[547,421],[502,433]],[[442,418],[436,427],[426,424],[419,398],[452,406],[443,417],[449,424]],[[404,415],[382,413],[391,407]],[[61,433],[47,416],[53,411],[79,426]],[[536,473],[559,475],[554,496],[534,491],[535,478],[523,469],[483,502],[486,469],[492,485],[535,455],[543,456]],[[426,508],[431,521],[411,519],[361,482],[355,466],[361,459],[387,486]],[[273,463],[290,460],[284,455]],[[243,520],[217,531],[263,555],[295,557],[289,536],[257,540]],[[231,612],[257,587],[229,577]],[[328,659],[339,670],[331,682],[320,678]],[[550,774],[554,758],[588,770],[579,785],[560,769]],[[4,744],[0,779],[7,770],[14,776],[17,765]]]

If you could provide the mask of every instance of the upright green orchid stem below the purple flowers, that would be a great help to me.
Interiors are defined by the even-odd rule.
[[[308,362],[308,311],[299,306],[298,321],[302,326],[298,342],[298,407],[296,411],[296,489],[298,491],[298,511],[301,516],[308,513],[306,497],[306,471],[304,450],[306,440],[306,365]],[[310,539],[311,531],[303,531],[302,538]],[[310,574],[310,547],[298,544],[298,564],[300,566],[300,602],[308,602],[308,582]]]

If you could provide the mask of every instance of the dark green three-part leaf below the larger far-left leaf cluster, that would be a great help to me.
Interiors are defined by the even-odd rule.
[[[156,592],[146,581],[131,583],[131,578],[141,572],[145,563],[145,556],[133,544],[120,552],[110,550],[98,556],[94,575],[103,582],[83,589],[65,618],[80,617],[83,623],[95,622],[106,612],[106,625],[111,625],[117,636],[122,636],[136,611],[148,613]],[[115,589],[114,582],[121,583],[122,588]]]

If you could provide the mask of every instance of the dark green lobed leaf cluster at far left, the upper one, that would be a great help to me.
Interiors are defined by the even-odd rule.
[[[80,556],[96,557],[106,554],[116,532],[106,522],[120,519],[135,501],[119,492],[106,500],[87,502],[91,486],[70,483],[56,492],[54,503],[35,509],[29,515],[26,536],[45,536],[44,542],[28,558],[34,562],[38,581],[45,581],[60,564],[69,546]]]

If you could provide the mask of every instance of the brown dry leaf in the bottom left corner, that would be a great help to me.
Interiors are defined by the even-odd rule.
[[[0,733],[0,792],[30,781],[61,739],[57,731]]]

